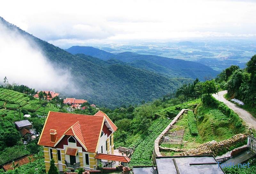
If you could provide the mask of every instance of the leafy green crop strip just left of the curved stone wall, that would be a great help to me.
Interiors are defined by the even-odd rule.
[[[159,118],[155,120],[148,129],[148,135],[136,147],[132,154],[130,166],[135,165],[152,165],[152,154],[154,150],[154,142],[159,134],[168,126],[171,120]]]

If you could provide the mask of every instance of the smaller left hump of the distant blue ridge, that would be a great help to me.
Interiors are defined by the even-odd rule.
[[[85,54],[100,58],[102,60],[108,60],[113,56],[112,53],[108,53],[106,51],[94,47],[73,46],[65,50],[71,54]]]

